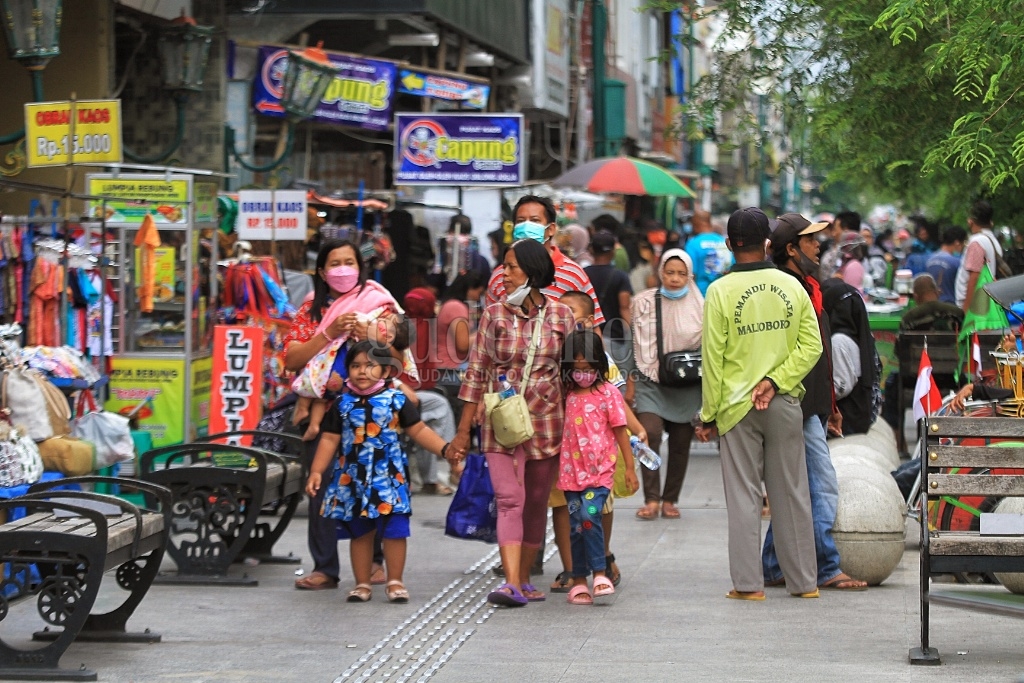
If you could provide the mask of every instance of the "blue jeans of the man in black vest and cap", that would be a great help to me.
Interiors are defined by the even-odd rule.
[[[839,482],[836,469],[828,455],[825,440],[827,420],[811,416],[804,420],[804,450],[807,459],[807,483],[811,492],[811,518],[814,522],[814,551],[818,560],[818,585],[827,583],[842,573],[839,567],[839,550],[833,539],[831,527],[836,523],[839,507]],[[768,501],[771,504],[771,500]],[[765,537],[761,553],[761,565],[765,582],[776,582],[782,578],[782,570],[775,555],[774,536],[771,524]]]

